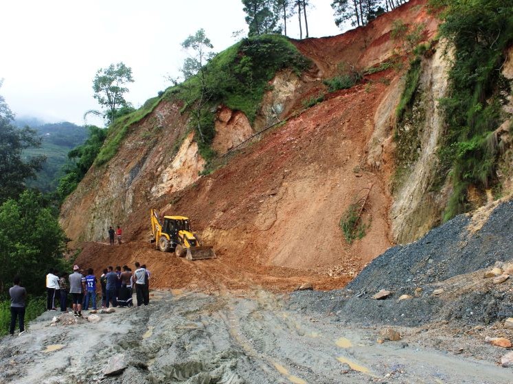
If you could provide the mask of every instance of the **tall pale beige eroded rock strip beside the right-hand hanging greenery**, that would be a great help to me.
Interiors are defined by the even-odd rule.
[[[422,60],[418,92],[412,117],[402,121],[401,129],[417,136],[408,145],[418,158],[408,165],[407,174],[398,182],[391,206],[392,237],[396,243],[409,243],[440,224],[447,202],[447,188],[430,191],[437,171],[440,139],[444,120],[439,100],[446,95],[449,64],[444,47],[438,46],[431,56]],[[399,128],[398,128],[399,129]],[[404,150],[404,148],[396,148]]]

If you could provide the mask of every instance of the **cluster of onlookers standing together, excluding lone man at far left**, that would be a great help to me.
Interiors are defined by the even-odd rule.
[[[146,265],[135,263],[135,272],[127,265],[123,267],[109,266],[103,270],[100,276],[102,291],[102,308],[123,306],[131,307],[133,289],[137,296],[137,307],[148,305],[150,302],[150,271]],[[50,268],[46,276],[47,311],[57,311],[55,299],[60,299],[60,311],[67,311],[68,293],[71,293],[73,302],[73,315],[82,317],[82,309],[87,311],[91,305],[96,307],[97,283],[92,268],[84,271],[78,265],[73,266],[73,273],[66,276]]]

